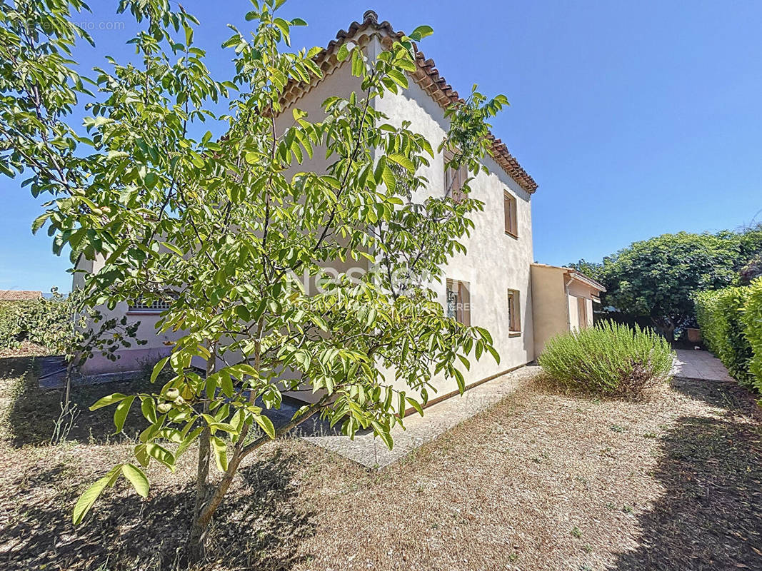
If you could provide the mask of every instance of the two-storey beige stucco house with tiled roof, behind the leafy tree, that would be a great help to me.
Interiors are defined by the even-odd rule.
[[[278,129],[289,125],[291,110],[299,108],[309,113],[312,120],[322,115],[322,102],[331,96],[349,97],[360,93],[360,78],[351,73],[351,62],[338,61],[336,53],[343,43],[361,46],[373,60],[399,37],[389,22],[379,23],[373,11],[367,11],[362,22],[354,22],[348,30],[338,32],[336,39],[315,56],[323,77],[312,83],[292,83],[283,94],[283,113],[277,117]],[[459,95],[447,84],[434,65],[423,53],[418,53],[415,72],[409,72],[409,88],[399,94],[387,93],[373,100],[373,106],[389,117],[390,123],[411,123],[410,128],[422,133],[434,148],[446,136],[448,120],[445,110]],[[535,181],[508,152],[500,139],[491,137],[492,157],[485,158],[489,173],[480,172],[471,183],[471,193],[485,204],[482,212],[473,214],[475,228],[463,243],[467,254],[456,254],[443,274],[447,279],[434,284],[438,299],[451,317],[464,324],[478,325],[490,331],[501,361],[482,358],[472,363],[469,371],[463,369],[467,385],[495,378],[518,368],[535,358],[536,335],[533,310],[532,266],[532,210],[531,199],[537,189]],[[299,167],[301,170],[324,171],[328,162],[320,153]],[[423,201],[427,196],[443,196],[450,181],[459,176],[448,172],[445,158],[438,154],[421,174],[429,180],[429,187],[419,190],[413,199]],[[81,269],[98,270],[100,262],[82,260]],[[338,271],[347,271],[342,263],[335,263]],[[370,269],[370,268],[368,268]],[[78,274],[75,274],[78,276]],[[75,279],[82,279],[81,275]],[[561,285],[562,292],[564,285]],[[540,289],[544,293],[544,289]],[[173,341],[173,333],[155,335],[154,324],[162,307],[160,305],[126,307],[117,306],[116,316],[126,314],[130,319],[141,321],[139,336],[149,340],[139,349],[122,351],[122,359],[113,362],[100,361],[98,357],[85,365],[85,373],[139,368],[140,362],[150,362],[165,355]],[[566,322],[568,311],[561,311],[557,321]],[[591,314],[591,312],[590,312]],[[454,379],[434,378],[437,399],[455,394]]]

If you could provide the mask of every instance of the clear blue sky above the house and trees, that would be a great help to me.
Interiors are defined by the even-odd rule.
[[[182,3],[225,77],[219,44],[227,23],[247,29],[248,0]],[[77,18],[97,45],[77,50],[83,67],[132,56],[134,25],[116,5],[97,0]],[[367,8],[397,29],[434,27],[421,49],[457,90],[507,95],[493,131],[539,183],[537,261],[600,260],[664,232],[762,220],[762,3],[289,0],[283,14],[309,22],[295,46],[323,46]],[[68,260],[30,231],[42,200],[0,185],[0,289],[68,291]]]

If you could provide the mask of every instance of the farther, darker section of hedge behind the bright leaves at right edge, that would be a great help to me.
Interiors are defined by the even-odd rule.
[[[725,288],[713,292],[698,292],[696,319],[706,346],[728,368],[738,382],[751,386],[749,362],[751,345],[745,334],[744,308],[751,288]]]

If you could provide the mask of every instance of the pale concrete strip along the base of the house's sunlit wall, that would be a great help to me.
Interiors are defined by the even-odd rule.
[[[384,467],[399,460],[424,442],[429,442],[443,432],[482,410],[491,407],[503,397],[514,392],[521,378],[535,374],[539,367],[523,367],[491,381],[479,384],[463,396],[451,397],[424,410],[405,417],[405,430],[396,427],[392,431],[394,448],[389,450],[373,433],[355,435],[354,440],[341,434],[303,435],[314,445],[354,460],[367,467]],[[309,423],[309,421],[308,421]],[[310,430],[312,432],[312,430]],[[304,434],[304,433],[302,433]],[[312,432],[314,434],[314,432]]]

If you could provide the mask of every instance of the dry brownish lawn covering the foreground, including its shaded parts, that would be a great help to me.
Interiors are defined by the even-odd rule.
[[[87,411],[47,445],[58,395],[35,387],[32,357],[0,359],[0,568],[172,569],[193,455],[149,471],[146,502],[117,487],[75,529],[76,496],[139,425],[110,435],[108,411]],[[270,445],[242,469],[203,569],[762,569],[760,460],[759,410],[734,384],[678,380],[631,402],[530,379],[381,471]]]

